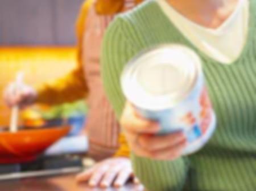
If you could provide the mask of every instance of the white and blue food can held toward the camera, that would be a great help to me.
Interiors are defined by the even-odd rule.
[[[179,44],[160,45],[135,56],[121,75],[123,94],[143,117],[158,121],[160,135],[183,131],[196,152],[209,140],[216,116],[204,84],[201,60]]]

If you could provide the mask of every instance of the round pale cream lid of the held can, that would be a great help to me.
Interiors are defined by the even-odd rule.
[[[201,61],[183,45],[162,45],[127,63],[121,86],[127,99],[144,109],[174,107],[189,95],[201,73]]]

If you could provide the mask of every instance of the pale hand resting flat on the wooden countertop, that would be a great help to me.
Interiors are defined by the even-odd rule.
[[[88,181],[92,187],[108,188],[112,185],[116,187],[123,186],[130,177],[133,177],[130,159],[120,157],[103,160],[77,175],[76,180],[78,182]],[[134,178],[134,182],[137,181]]]

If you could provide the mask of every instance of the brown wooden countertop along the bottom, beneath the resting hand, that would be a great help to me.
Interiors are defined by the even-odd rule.
[[[23,179],[15,181],[0,181],[1,191],[143,191],[142,185],[128,184],[123,188],[100,189],[89,188],[86,184],[77,184],[75,174]]]

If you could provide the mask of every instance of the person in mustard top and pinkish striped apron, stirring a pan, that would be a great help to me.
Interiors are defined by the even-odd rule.
[[[78,39],[75,70],[55,82],[33,88],[26,84],[15,94],[6,88],[9,106],[33,103],[61,104],[86,97],[89,104],[86,129],[89,154],[102,162],[77,176],[91,186],[122,186],[133,175],[129,148],[121,134],[114,112],[106,99],[100,78],[100,45],[105,29],[119,12],[132,9],[142,0],[87,0],[76,23]]]

